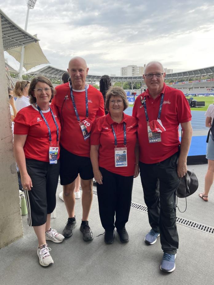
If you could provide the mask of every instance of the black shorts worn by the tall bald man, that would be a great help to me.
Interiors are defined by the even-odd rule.
[[[80,174],[81,179],[93,178],[93,168],[89,157],[79,156],[60,146],[60,183],[68,185]]]

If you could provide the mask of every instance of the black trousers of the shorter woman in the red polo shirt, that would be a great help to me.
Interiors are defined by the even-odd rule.
[[[102,226],[106,231],[121,229],[129,220],[133,176],[115,174],[102,167],[100,171],[103,184],[97,183],[97,197]]]

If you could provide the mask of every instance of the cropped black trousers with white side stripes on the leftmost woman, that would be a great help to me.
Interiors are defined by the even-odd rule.
[[[56,207],[60,162],[58,160],[57,164],[50,164],[26,158],[26,168],[33,184],[30,191],[24,190],[28,225],[41,226],[46,223],[47,214],[52,213]]]

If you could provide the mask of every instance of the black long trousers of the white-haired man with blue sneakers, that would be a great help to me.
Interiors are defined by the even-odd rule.
[[[171,254],[175,254],[178,248],[176,189],[180,178],[177,175],[177,157],[176,153],[162,162],[139,163],[149,224],[160,232],[162,250]]]

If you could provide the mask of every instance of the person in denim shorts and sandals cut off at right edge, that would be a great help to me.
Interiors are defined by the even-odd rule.
[[[205,116],[205,125],[206,127],[210,128],[212,126],[212,121],[214,118],[214,104],[209,105]],[[208,201],[208,194],[214,180],[214,140],[212,139],[214,136],[212,135],[212,131],[213,130],[211,129],[207,144],[206,158],[208,159],[208,170],[205,175],[204,192],[199,194],[199,197],[201,197],[206,202]]]

